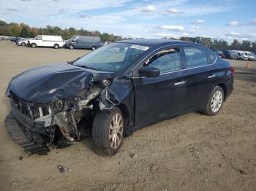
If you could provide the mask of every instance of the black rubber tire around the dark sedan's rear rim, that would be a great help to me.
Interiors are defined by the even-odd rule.
[[[212,109],[212,104],[214,102],[212,102],[212,101],[213,101],[214,94],[217,92],[220,92],[222,94],[222,101],[219,106],[219,109],[217,109],[217,111],[214,111],[214,109]],[[201,112],[203,112],[203,114],[207,114],[209,116],[218,114],[219,111],[222,109],[223,101],[225,98],[224,96],[225,95],[224,95],[224,91],[223,91],[222,87],[219,87],[219,86],[214,87],[214,90],[212,90],[212,92],[211,92],[211,96],[208,98],[206,106],[204,106],[204,108],[201,110]]]

